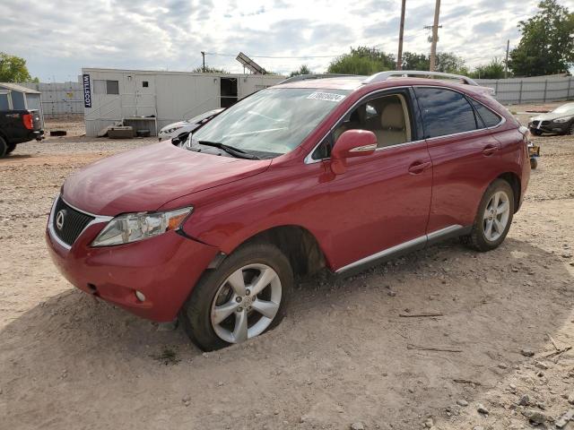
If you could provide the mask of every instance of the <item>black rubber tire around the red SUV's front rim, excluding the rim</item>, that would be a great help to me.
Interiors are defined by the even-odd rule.
[[[293,273],[289,260],[274,245],[244,245],[230,254],[217,269],[205,271],[179,312],[179,322],[197,347],[204,351],[212,351],[230,345],[230,342],[222,340],[213,329],[211,320],[213,300],[216,299],[215,295],[219,288],[233,272],[248,264],[257,263],[271,267],[281,280],[282,297],[279,309],[265,331],[274,328],[283,320],[293,289]]]

